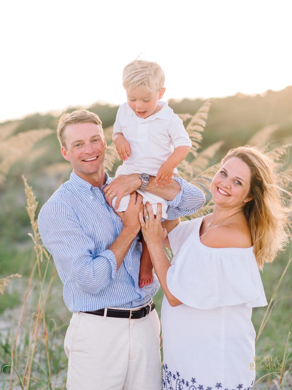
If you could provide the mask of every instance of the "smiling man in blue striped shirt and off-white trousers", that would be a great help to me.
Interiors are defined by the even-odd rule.
[[[77,110],[62,115],[57,129],[61,152],[73,172],[44,204],[39,231],[64,284],[73,312],[65,336],[69,390],[160,389],[160,323],[152,297],[159,288],[139,287],[139,211],[147,187],[168,201],[170,219],[195,213],[204,194],[181,178],[158,188],[147,174],[104,171],[106,141],[97,115]],[[111,199],[130,195],[126,211]]]

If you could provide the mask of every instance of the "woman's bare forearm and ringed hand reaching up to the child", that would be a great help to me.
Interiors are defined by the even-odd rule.
[[[141,231],[144,240],[146,241],[155,273],[158,277],[164,294],[171,306],[178,306],[181,305],[182,302],[171,294],[166,283],[167,271],[171,264],[164,252],[163,241],[167,235],[167,230],[161,226],[161,214],[161,204],[158,203],[157,216],[154,218],[152,207],[149,203],[147,203],[146,206],[144,206],[144,218],[149,216],[149,219],[144,220],[143,214],[139,213]]]

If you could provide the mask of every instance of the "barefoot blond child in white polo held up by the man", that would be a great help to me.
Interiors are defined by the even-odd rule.
[[[166,201],[145,188],[149,176],[156,176],[156,185],[169,184],[172,176],[177,176],[176,166],[185,159],[192,143],[178,115],[168,103],[160,101],[165,91],[164,81],[164,72],[156,62],[134,60],[125,66],[123,87],[127,103],[118,109],[113,142],[123,160],[116,176],[140,173],[142,186],[137,192],[141,193],[143,204],[149,202],[156,214],[157,204],[161,203],[162,218],[167,219]],[[130,195],[123,197],[117,211],[125,211],[129,200]],[[113,207],[115,201],[116,198]],[[139,286],[152,282],[152,263],[142,239]]]

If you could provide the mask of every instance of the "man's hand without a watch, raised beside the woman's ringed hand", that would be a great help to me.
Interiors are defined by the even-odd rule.
[[[137,197],[136,197],[137,195]],[[142,195],[135,191],[130,194],[130,202],[126,211],[116,211],[116,214],[121,218],[124,229],[128,230],[133,237],[137,236],[141,229],[139,221],[139,213],[143,211]]]

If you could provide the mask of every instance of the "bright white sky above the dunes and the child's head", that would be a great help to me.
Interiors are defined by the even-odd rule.
[[[290,0],[9,0],[0,18],[0,121],[125,101],[123,67],[158,62],[164,100],[292,85]]]

